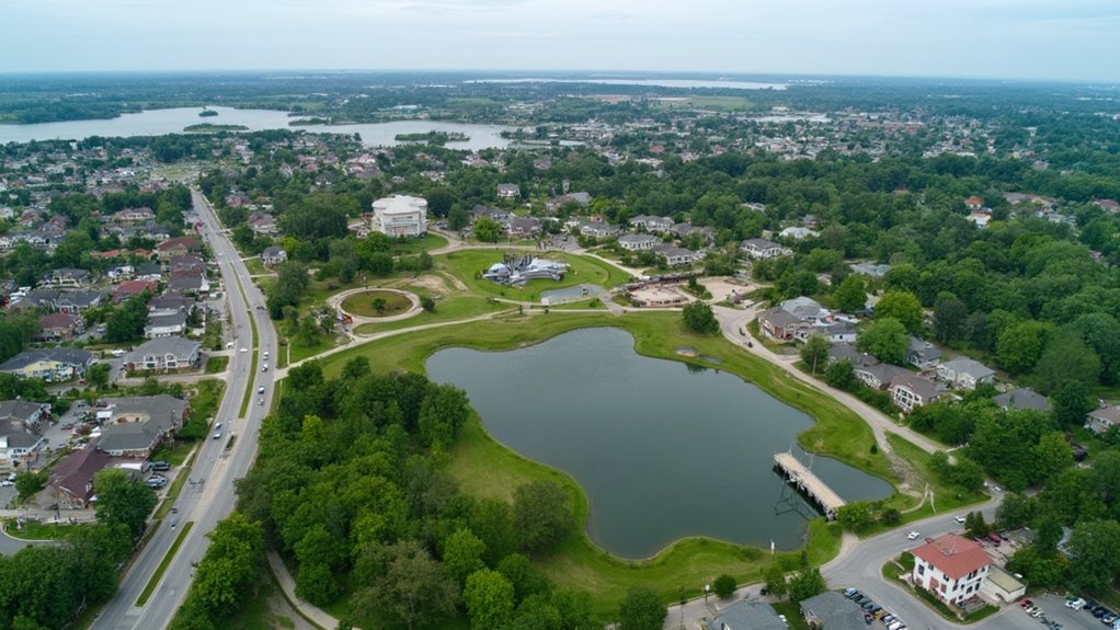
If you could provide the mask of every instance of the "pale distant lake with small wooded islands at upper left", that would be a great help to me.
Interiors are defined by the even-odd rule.
[[[386,123],[362,123],[339,125],[306,125],[289,126],[293,119],[287,112],[277,110],[236,110],[233,107],[208,107],[218,113],[216,116],[199,117],[202,107],[174,107],[169,110],[149,110],[136,114],[121,114],[115,119],[84,120],[66,122],[48,122],[38,124],[0,124],[0,144],[7,142],[30,142],[31,140],[82,140],[91,135],[105,138],[130,138],[133,135],[162,135],[165,133],[183,133],[184,128],[193,124],[235,124],[249,128],[249,131],[267,129],[304,130],[309,133],[357,133],[367,147],[395,147],[399,133],[423,133],[442,131],[446,133],[463,133],[469,138],[465,142],[448,142],[449,149],[478,149],[508,145],[510,140],[501,133],[513,128],[486,124],[458,124],[437,121],[394,121]]]

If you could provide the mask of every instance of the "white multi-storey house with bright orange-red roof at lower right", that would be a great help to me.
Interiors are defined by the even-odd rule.
[[[956,534],[945,534],[911,553],[914,555],[914,584],[954,605],[980,594],[981,583],[992,564],[980,545]]]

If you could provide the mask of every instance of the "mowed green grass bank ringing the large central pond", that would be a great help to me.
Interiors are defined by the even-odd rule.
[[[328,376],[337,376],[346,360],[365,356],[376,372],[409,369],[423,372],[423,361],[441,348],[459,346],[480,350],[506,350],[535,344],[568,330],[613,326],[635,336],[635,349],[646,356],[681,360],[675,349],[691,346],[700,355],[722,360],[716,365],[700,359],[690,363],[737,374],[780,399],[796,406],[816,420],[802,433],[806,448],[829,454],[861,470],[889,479],[889,464],[879,453],[871,453],[874,436],[855,413],[840,403],[786,376],[778,368],[743,352],[721,337],[688,332],[680,316],[670,312],[631,313],[622,317],[603,313],[507,314],[493,320],[448,326],[377,340],[339,352],[324,366]],[[529,460],[506,449],[486,434],[475,419],[463,431],[450,452],[448,467],[464,491],[476,497],[511,500],[519,485],[534,479],[551,479],[563,485],[572,497],[579,534],[572,535],[558,552],[536,564],[558,584],[587,590],[595,598],[596,610],[612,614],[631,584],[654,587],[665,602],[701,595],[702,584],[728,573],[739,583],[756,582],[769,563],[768,553],[757,547],[735,545],[709,538],[685,538],[663,549],[653,558],[627,561],[596,547],[584,534],[588,504],[582,489],[566,473]],[[822,563],[839,551],[840,530],[818,519],[810,525],[808,553],[811,562]],[[780,554],[792,560],[796,553]]]

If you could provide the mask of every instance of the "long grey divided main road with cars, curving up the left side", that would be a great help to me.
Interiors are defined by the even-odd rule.
[[[171,519],[157,524],[158,530],[148,540],[131,568],[124,575],[120,591],[93,623],[95,629],[166,628],[175,611],[183,603],[194,564],[203,557],[209,539],[206,534],[225,518],[234,506],[234,481],[244,477],[256,454],[256,440],[261,421],[272,402],[273,372],[261,372],[263,358],[253,364],[253,333],[250,318],[256,323],[260,357],[265,351],[277,356],[277,338],[264,308],[264,297],[249,281],[249,269],[241,261],[230,238],[222,232],[217,217],[206,199],[193,190],[194,220],[200,224],[199,233],[209,243],[225,285],[230,307],[230,321],[235,338],[234,351],[226,372],[226,388],[218,405],[216,420],[222,423],[222,438],[207,439],[197,451],[190,481],[184,486],[176,507],[183,527],[194,521],[155,592],[143,607],[137,607],[140,592],[156,573],[156,567],[168,553],[179,533],[171,527]],[[245,348],[246,351],[240,351]],[[239,417],[246,387],[253,387],[253,401],[244,419]],[[264,387],[258,395],[255,389]],[[256,403],[263,398],[264,404]],[[234,439],[236,436],[236,439]],[[231,444],[232,440],[232,444]]]

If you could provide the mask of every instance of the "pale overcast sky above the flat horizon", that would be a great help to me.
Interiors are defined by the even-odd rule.
[[[0,72],[590,69],[1120,81],[1118,0],[3,0]]]

